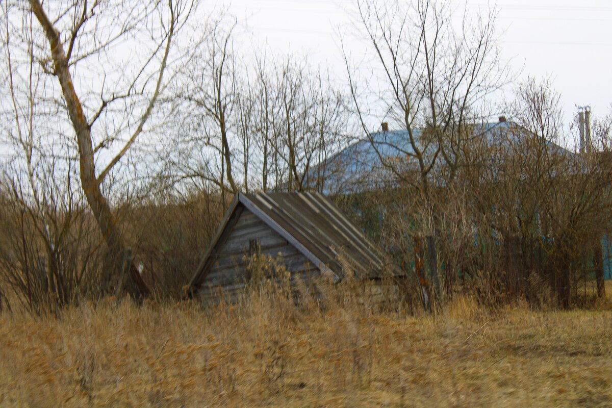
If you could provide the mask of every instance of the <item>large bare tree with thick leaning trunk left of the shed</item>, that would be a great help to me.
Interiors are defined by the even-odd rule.
[[[171,52],[175,37],[194,7],[193,1],[181,0],[132,6],[83,0],[45,9],[39,0],[30,0],[29,9],[21,9],[24,16],[33,13],[45,35],[47,46],[34,35],[32,47],[39,64],[61,88],[61,104],[76,136],[81,186],[116,259],[106,276],[109,287],[122,285],[116,274],[122,269],[124,244],[102,185],[142,135],[160,93],[173,79],[173,74],[165,74],[169,63],[180,57]],[[146,44],[141,48],[146,51],[118,61],[114,54],[130,39],[133,45]],[[99,68],[100,83],[88,92],[79,74],[87,75],[91,64]],[[102,160],[106,164],[100,166]],[[135,297],[148,293],[133,265],[125,291]]]

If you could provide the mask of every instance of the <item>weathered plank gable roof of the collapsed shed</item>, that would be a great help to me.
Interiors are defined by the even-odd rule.
[[[344,278],[344,256],[357,278],[380,277],[389,263],[364,234],[321,193],[237,193],[189,284],[193,292],[203,283],[241,212],[247,209],[318,267]]]

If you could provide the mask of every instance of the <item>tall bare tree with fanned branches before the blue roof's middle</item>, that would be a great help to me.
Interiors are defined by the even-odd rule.
[[[453,24],[449,2],[359,0],[356,6],[356,26],[370,57],[362,65],[375,73],[360,76],[345,49],[359,123],[383,166],[429,208],[431,229],[420,229],[438,236],[433,190],[452,184],[465,165],[463,150],[482,137],[474,125],[482,122],[484,98],[509,79],[496,42],[496,13],[469,17],[466,10]],[[371,116],[406,131],[407,140],[389,143],[384,135],[375,140]],[[383,153],[389,149],[395,154]]]

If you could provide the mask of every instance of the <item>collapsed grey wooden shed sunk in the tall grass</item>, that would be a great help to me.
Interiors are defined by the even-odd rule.
[[[280,262],[293,287],[299,280],[312,287],[321,275],[335,283],[348,274],[368,281],[399,275],[320,193],[238,193],[192,278],[190,295],[235,299],[252,279],[254,254]]]

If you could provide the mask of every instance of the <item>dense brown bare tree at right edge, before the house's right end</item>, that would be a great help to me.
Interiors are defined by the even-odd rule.
[[[595,131],[599,152],[565,149],[559,94],[550,81],[528,80],[515,95],[514,120],[471,146],[468,155],[479,160],[457,176],[477,229],[474,269],[494,271],[498,293],[535,301],[546,287],[567,308],[589,259],[600,264],[600,239],[611,226],[609,136],[595,126],[602,129]]]

